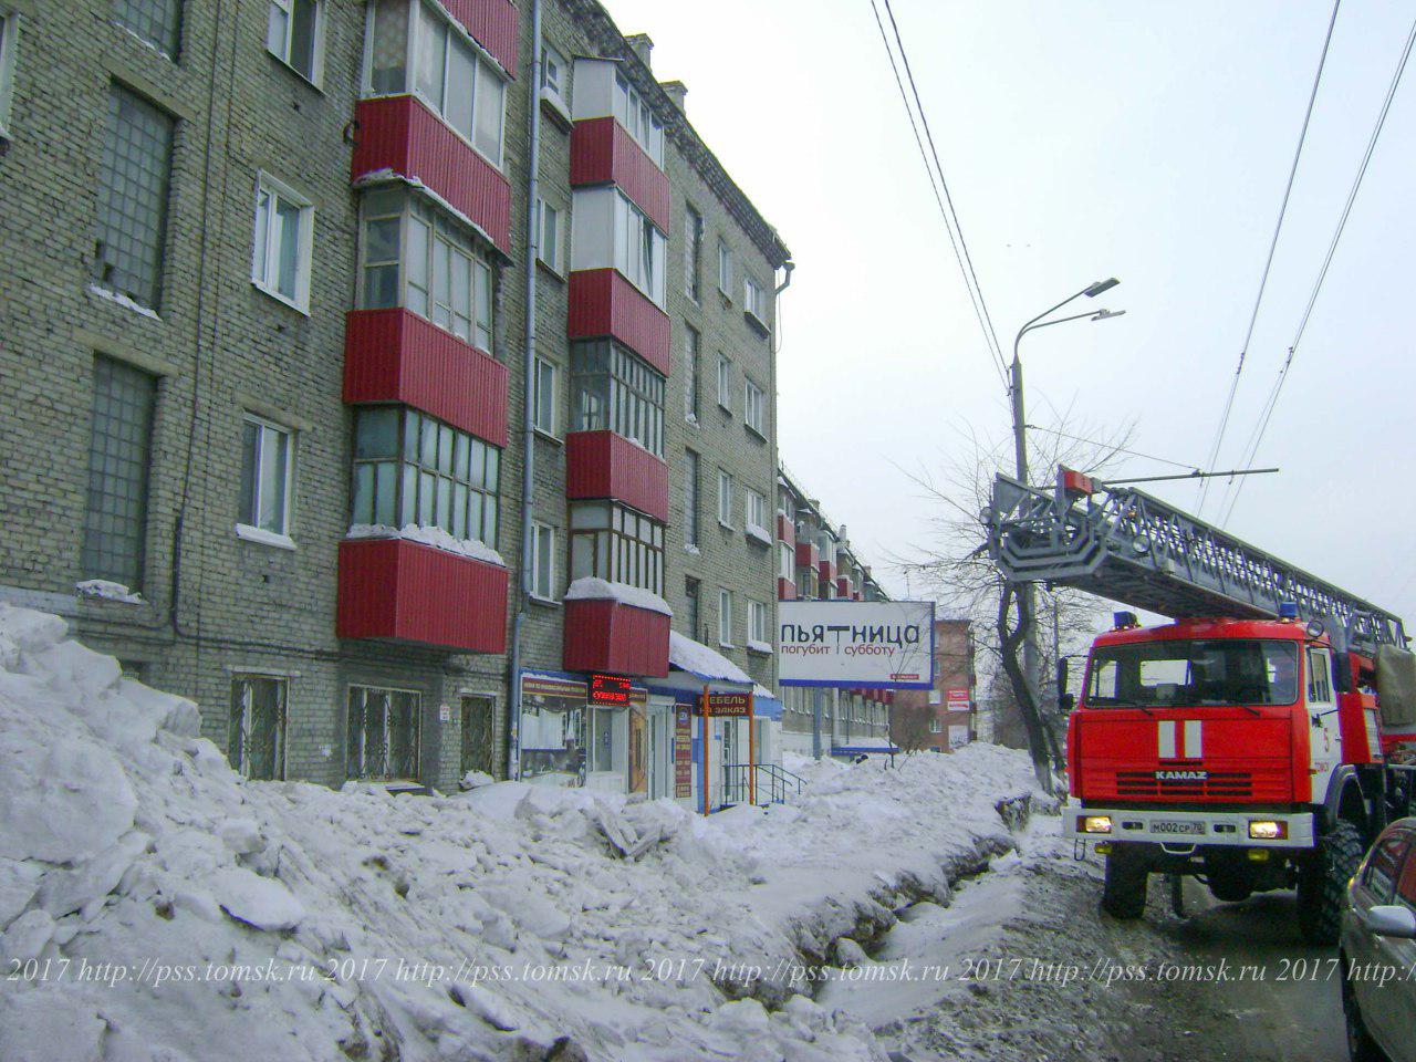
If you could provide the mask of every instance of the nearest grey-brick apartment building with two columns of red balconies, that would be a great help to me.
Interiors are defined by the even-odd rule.
[[[790,256],[650,47],[0,0],[0,600],[255,777],[700,792],[692,690],[776,711]]]

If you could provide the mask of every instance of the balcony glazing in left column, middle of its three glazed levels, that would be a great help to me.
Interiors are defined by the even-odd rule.
[[[401,188],[364,195],[364,309],[402,306],[491,353],[491,266],[447,215]]]

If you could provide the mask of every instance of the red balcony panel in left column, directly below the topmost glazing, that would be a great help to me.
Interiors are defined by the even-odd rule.
[[[413,96],[361,99],[351,178],[391,173],[422,181],[511,253],[511,184]]]

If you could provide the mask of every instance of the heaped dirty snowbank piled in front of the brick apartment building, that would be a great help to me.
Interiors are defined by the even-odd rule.
[[[1008,851],[1031,769],[803,769],[707,820],[251,783],[194,705],[0,606],[0,1059],[884,1059],[824,964]]]

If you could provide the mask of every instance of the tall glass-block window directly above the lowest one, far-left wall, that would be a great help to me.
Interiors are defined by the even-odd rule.
[[[153,310],[161,295],[174,125],[142,96],[110,89],[93,266],[101,286]]]

